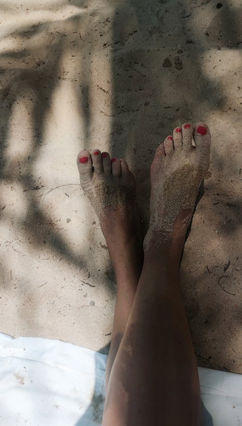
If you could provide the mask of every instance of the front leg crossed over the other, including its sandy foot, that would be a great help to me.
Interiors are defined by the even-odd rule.
[[[179,262],[210,161],[204,123],[185,124],[151,166],[151,222],[144,266],[107,387],[103,426],[200,423],[196,358],[179,285]]]

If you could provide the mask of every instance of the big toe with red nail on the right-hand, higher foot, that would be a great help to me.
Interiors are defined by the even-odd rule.
[[[196,144],[197,154],[201,158],[203,158],[203,161],[209,163],[211,134],[209,127],[206,125],[206,123],[199,122],[196,124],[196,126],[194,127],[193,138]]]

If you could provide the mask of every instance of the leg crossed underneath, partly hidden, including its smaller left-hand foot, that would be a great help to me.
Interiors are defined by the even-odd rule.
[[[94,166],[94,170],[93,170]],[[143,267],[143,246],[137,234],[136,182],[124,160],[98,149],[77,156],[80,183],[101,222],[117,281],[117,300],[106,385],[131,311]]]

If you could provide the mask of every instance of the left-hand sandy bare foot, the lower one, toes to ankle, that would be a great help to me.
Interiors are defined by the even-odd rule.
[[[80,152],[77,167],[81,187],[95,209],[105,237],[115,234],[121,225],[122,231],[128,227],[133,232],[136,181],[126,161],[110,159],[107,152],[101,154],[95,149],[91,154]]]

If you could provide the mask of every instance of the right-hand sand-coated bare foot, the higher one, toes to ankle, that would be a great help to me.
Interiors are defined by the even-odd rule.
[[[194,130],[186,123],[157,148],[151,164],[151,218],[145,251],[174,239],[183,246],[198,189],[209,168],[210,144],[205,123],[197,123]]]

